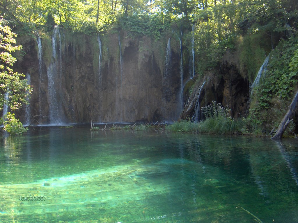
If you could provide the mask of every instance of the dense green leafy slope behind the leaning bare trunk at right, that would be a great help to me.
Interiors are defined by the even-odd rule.
[[[297,88],[297,44],[294,36],[280,41],[270,53],[266,78],[254,90],[248,118],[263,132],[278,127]]]

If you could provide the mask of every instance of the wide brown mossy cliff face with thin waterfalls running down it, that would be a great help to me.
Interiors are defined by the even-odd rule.
[[[26,54],[14,68],[31,76],[32,124],[177,119],[180,55],[171,50],[171,76],[165,77],[167,40],[133,39],[125,32],[97,37],[58,31],[41,36],[40,61],[35,39],[21,43]],[[165,78],[170,78],[167,86]],[[18,116],[28,119],[24,110]]]

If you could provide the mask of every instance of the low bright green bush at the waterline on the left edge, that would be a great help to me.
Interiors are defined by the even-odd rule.
[[[12,135],[20,135],[27,132],[28,128],[24,128],[19,119],[15,118],[15,114],[7,112],[6,116],[0,119],[0,122],[4,125],[4,130]]]

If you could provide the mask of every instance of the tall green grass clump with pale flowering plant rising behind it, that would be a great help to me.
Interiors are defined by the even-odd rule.
[[[211,105],[202,108],[206,119],[199,123],[200,132],[212,134],[237,134],[243,128],[242,120],[234,120],[229,112],[231,109],[221,103],[212,101]]]

